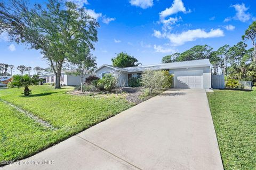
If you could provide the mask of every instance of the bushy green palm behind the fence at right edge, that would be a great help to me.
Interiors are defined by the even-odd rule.
[[[255,72],[256,63],[245,63],[233,64],[230,68],[230,77],[239,80],[248,80],[256,75]]]

